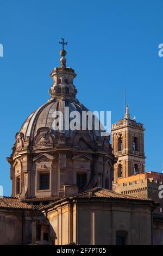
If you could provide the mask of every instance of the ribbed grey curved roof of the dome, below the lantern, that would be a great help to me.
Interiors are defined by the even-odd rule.
[[[88,111],[77,99],[53,99],[53,101],[43,104],[41,107],[36,109],[29,117],[24,121],[20,132],[23,133],[24,138],[30,137],[33,139],[37,131],[41,127],[48,127],[52,130],[55,138],[59,136],[58,131],[54,131],[53,126],[56,118],[54,117],[54,112],[60,110],[64,117],[64,109],[69,107],[69,113],[72,111],[78,111],[82,117],[82,111]],[[71,120],[69,118],[69,120]],[[93,130],[87,130],[87,133],[90,135],[92,141],[96,141],[97,136],[101,136],[99,130],[95,131],[95,124],[93,123]],[[62,133],[65,133],[67,138],[70,138],[74,135],[76,131],[72,130],[62,130]]]

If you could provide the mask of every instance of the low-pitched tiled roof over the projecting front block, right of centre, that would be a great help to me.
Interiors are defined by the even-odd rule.
[[[139,198],[139,197],[133,197],[133,196],[127,196],[124,194],[119,194],[112,190],[106,190],[101,187],[95,187],[91,190],[82,192],[80,194],[77,194],[77,196],[74,196],[73,198],[114,198],[114,199],[130,199],[130,200],[149,200],[152,201],[152,199],[147,198]]]

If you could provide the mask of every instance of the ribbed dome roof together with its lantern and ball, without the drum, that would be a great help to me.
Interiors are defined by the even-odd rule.
[[[43,129],[43,127],[49,128],[55,138],[58,138],[60,134],[64,134],[66,138],[71,138],[74,133],[77,132],[76,129],[70,129],[70,121],[73,119],[71,114],[74,111],[77,111],[80,114],[80,120],[77,119],[78,121],[76,123],[80,123],[80,130],[82,130],[82,113],[89,111],[89,109],[82,105],[76,98],[77,89],[73,84],[73,79],[76,77],[76,74],[73,69],[66,66],[66,51],[61,50],[60,55],[60,67],[54,68],[50,74],[53,78],[53,85],[51,89],[49,89],[51,98],[47,103],[43,104],[30,114],[20,129],[20,134],[23,138],[29,137],[31,142],[33,142],[36,137],[37,131],[41,128]],[[65,109],[68,112],[65,113]],[[62,114],[62,120],[60,120],[60,114],[57,118],[58,111]],[[69,119],[67,119],[67,115]],[[58,129],[56,129],[58,121],[62,122],[63,127],[58,127]],[[68,128],[65,127],[66,121]],[[96,121],[99,123],[97,118]],[[91,141],[95,142],[96,138],[101,136],[102,124],[99,125],[99,129],[95,129],[95,116],[93,116],[92,129],[89,129],[88,126],[89,121],[87,120],[85,130],[87,131],[87,135],[90,136]],[[104,138],[102,138],[102,140],[103,139]]]

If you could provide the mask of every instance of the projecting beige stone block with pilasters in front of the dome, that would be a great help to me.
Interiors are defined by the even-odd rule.
[[[54,228],[55,245],[75,242],[79,245],[116,245],[123,237],[125,245],[152,244],[152,209],[146,200],[96,197],[101,188],[49,206],[45,212]],[[92,193],[91,196],[88,196]],[[54,208],[55,205],[55,208]],[[153,205],[153,206],[152,206]],[[139,235],[137,235],[139,234]]]

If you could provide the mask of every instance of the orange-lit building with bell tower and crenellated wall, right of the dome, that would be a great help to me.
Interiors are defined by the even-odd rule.
[[[163,174],[145,172],[143,131],[143,124],[130,119],[128,106],[124,119],[112,125],[112,147],[117,157],[112,189],[124,195],[159,202],[153,212],[152,233],[153,243],[162,245],[163,200],[159,198],[159,186],[162,185]]]

